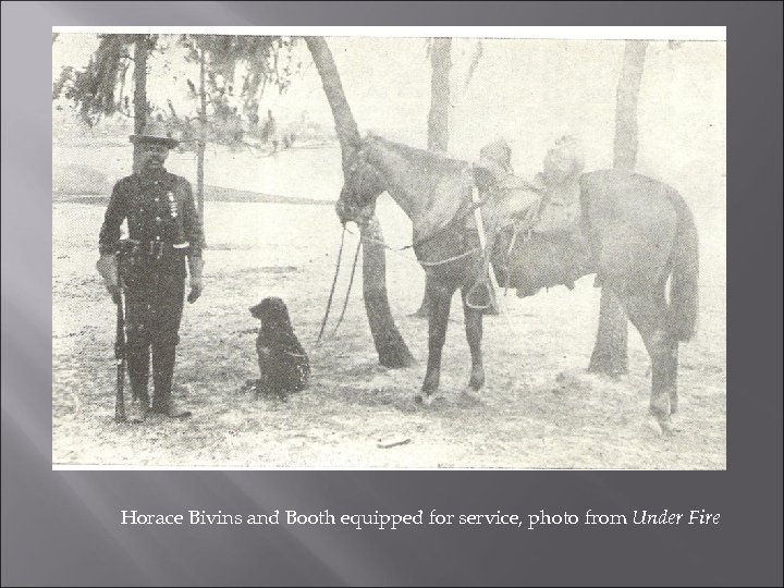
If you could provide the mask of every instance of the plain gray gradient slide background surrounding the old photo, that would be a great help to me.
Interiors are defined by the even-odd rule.
[[[782,4],[2,4],[3,585],[781,585]],[[726,25],[727,471],[52,471],[53,25]],[[718,527],[121,527],[118,511],[722,513]]]

